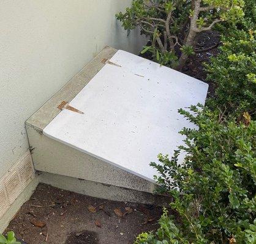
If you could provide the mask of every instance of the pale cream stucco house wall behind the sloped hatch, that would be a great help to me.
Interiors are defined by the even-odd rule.
[[[0,178],[28,149],[24,121],[105,45],[138,53],[115,19],[130,2],[0,1]]]

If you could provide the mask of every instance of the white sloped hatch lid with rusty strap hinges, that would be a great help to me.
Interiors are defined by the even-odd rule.
[[[181,145],[178,132],[193,127],[179,108],[205,103],[208,85],[119,50],[43,129],[59,142],[153,181],[149,163]],[[116,65],[113,65],[115,63]]]

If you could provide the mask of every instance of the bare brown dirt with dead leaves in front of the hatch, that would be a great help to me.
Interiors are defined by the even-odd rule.
[[[28,244],[133,243],[141,232],[158,228],[162,208],[92,198],[40,184],[11,221]]]

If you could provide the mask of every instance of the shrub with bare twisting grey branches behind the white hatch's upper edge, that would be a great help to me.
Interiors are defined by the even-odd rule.
[[[133,0],[126,12],[116,15],[126,30],[140,27],[150,45],[143,49],[157,62],[181,69],[195,50],[200,32],[217,23],[235,23],[243,13],[243,0]]]

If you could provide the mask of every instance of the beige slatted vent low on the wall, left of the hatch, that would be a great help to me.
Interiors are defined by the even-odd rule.
[[[31,154],[27,151],[0,179],[0,218],[34,178]]]

